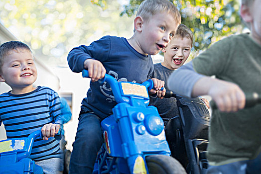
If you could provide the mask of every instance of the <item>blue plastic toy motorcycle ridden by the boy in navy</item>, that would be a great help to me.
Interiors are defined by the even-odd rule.
[[[83,77],[89,77],[83,71]],[[98,153],[93,174],[186,174],[170,157],[163,120],[156,107],[148,106],[152,80],[142,84],[118,82],[106,74],[116,102],[113,115],[101,122],[105,143]]]

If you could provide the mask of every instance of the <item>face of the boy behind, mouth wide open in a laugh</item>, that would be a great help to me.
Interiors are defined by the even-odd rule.
[[[174,37],[169,45],[162,50],[164,62],[161,64],[170,70],[178,69],[188,59],[191,45],[192,41],[188,37]]]

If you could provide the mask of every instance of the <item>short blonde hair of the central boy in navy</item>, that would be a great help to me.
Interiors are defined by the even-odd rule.
[[[177,24],[181,23],[181,15],[177,7],[168,0],[144,0],[138,7],[136,16],[147,20],[157,12],[167,12],[173,15]]]

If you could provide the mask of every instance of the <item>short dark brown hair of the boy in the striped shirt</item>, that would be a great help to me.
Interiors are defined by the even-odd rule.
[[[0,45],[0,74],[2,73],[1,67],[3,65],[3,58],[7,56],[11,50],[16,50],[18,48],[32,52],[28,45],[20,41],[9,41]]]

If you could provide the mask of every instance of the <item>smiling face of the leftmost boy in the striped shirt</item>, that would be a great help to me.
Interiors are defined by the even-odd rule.
[[[37,71],[32,53],[26,49],[11,50],[3,58],[0,82],[5,82],[12,89],[31,86],[37,78]]]

